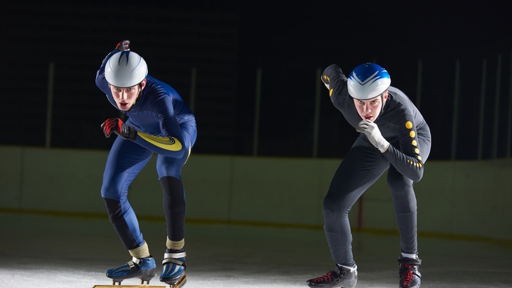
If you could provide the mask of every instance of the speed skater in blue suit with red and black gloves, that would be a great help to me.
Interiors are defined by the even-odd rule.
[[[156,153],[167,226],[160,281],[179,287],[187,279],[187,206],[181,171],[196,142],[196,120],[175,89],[147,73],[146,62],[130,50],[128,40],[117,44],[96,73],[97,87],[124,114],[121,118],[128,118],[109,118],[101,125],[105,137],[119,136],[107,158],[101,195],[114,230],[132,256],[127,263],[107,270],[107,277],[112,278],[113,284],[133,277],[140,278],[141,284],[149,284],[156,275],[156,263],[128,202],[130,184]]]

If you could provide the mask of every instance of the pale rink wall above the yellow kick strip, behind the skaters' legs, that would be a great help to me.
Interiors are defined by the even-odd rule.
[[[100,187],[107,153],[0,146],[0,212],[106,217]],[[163,219],[155,160],[130,188],[140,218]],[[192,153],[182,171],[187,221],[321,228],[323,196],[341,160]],[[511,158],[427,161],[415,184],[419,233],[511,246],[511,177]],[[353,228],[398,233],[385,175],[365,193],[361,211],[359,204]]]

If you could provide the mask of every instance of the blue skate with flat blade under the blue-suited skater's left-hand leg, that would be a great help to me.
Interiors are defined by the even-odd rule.
[[[140,278],[140,284],[153,279],[156,275],[156,263],[152,256],[147,258],[135,258],[117,268],[107,270],[107,277],[112,279],[112,285],[129,278]]]

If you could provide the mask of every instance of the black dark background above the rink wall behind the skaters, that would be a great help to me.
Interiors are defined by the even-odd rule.
[[[147,61],[149,74],[172,85],[187,104],[196,69],[194,153],[252,155],[256,74],[261,69],[257,155],[311,157],[317,70],[335,63],[349,74],[358,64],[377,62],[429,123],[431,159],[477,158],[480,123],[483,158],[508,156],[508,10],[490,2],[376,3],[11,2],[0,12],[0,144],[46,145],[53,63],[50,146],[109,149],[113,139],[105,139],[100,123],[119,112],[95,86],[95,71],[116,43],[130,39],[132,50]],[[343,157],[356,132],[323,86],[321,93],[317,156]],[[492,151],[495,142],[497,152]]]

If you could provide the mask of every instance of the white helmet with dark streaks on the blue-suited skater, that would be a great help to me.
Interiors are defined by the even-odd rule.
[[[135,86],[142,82],[146,76],[146,61],[130,50],[112,55],[105,65],[105,79],[110,85],[116,87]]]

